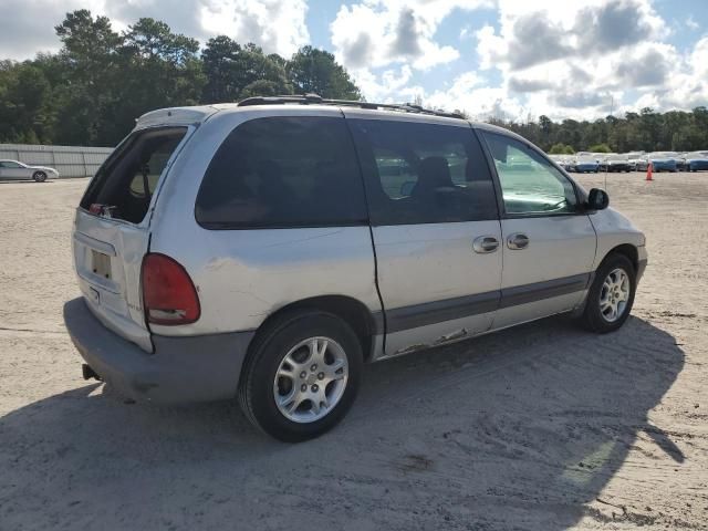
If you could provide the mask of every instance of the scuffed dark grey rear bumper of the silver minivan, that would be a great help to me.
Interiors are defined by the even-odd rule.
[[[189,404],[236,396],[254,332],[168,337],[153,335],[148,354],[106,329],[83,298],[64,304],[64,323],[82,357],[121,394],[156,404]]]

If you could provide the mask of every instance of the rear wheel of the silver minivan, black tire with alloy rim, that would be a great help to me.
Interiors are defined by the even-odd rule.
[[[337,316],[287,314],[258,334],[241,373],[239,402],[251,423],[288,442],[317,437],[352,406],[363,355]]]

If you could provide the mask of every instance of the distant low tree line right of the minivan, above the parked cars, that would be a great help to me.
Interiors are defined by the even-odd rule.
[[[657,113],[645,107],[624,117],[607,116],[594,122],[548,116],[525,123],[489,119],[537,144],[549,153],[576,152],[695,152],[708,149],[708,108]]]

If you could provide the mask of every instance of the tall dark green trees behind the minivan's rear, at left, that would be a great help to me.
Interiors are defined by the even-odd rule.
[[[360,100],[334,55],[312,46],[266,54],[226,35],[199,42],[139,19],[118,33],[87,10],[55,27],[59,53],[0,61],[0,143],[114,146],[135,118],[160,107],[304,94]]]

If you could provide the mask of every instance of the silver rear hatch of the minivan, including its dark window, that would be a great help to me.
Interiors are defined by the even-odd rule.
[[[154,113],[146,116],[160,122]],[[74,266],[86,303],[105,326],[147,352],[153,344],[140,266],[149,248],[150,214],[195,128],[168,121],[133,132],[98,169],[76,209]]]

